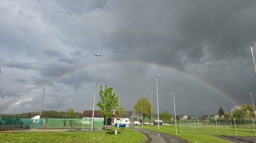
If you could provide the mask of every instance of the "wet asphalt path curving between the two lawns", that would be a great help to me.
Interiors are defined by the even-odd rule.
[[[158,131],[153,131],[153,130],[147,130],[143,129],[137,126],[134,126],[132,124],[129,124],[129,128],[142,132],[147,139],[144,141],[145,143],[149,142],[180,142],[180,143],[186,143],[188,141],[181,139],[176,136],[172,136],[166,133],[158,132]]]

